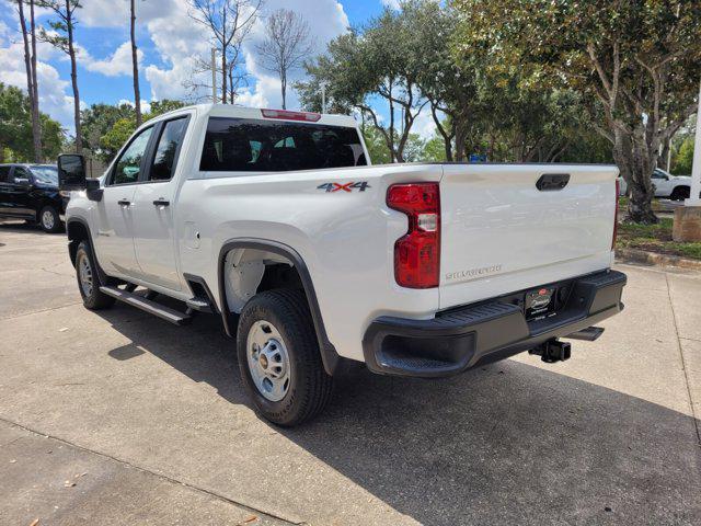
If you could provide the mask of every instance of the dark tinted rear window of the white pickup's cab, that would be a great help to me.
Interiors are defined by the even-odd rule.
[[[284,172],[365,164],[356,128],[209,117],[199,169]]]

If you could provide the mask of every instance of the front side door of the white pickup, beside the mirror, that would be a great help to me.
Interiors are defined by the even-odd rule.
[[[135,135],[107,174],[102,199],[95,204],[97,261],[110,273],[140,278],[134,251],[134,195],[146,168],[153,126]]]

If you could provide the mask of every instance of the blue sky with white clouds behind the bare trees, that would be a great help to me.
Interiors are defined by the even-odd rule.
[[[310,26],[315,54],[329,41],[363,25],[379,14],[384,5],[395,8],[399,0],[265,0],[262,16],[244,44],[249,87],[238,103],[252,107],[280,107],[279,80],[262,68],[255,44],[263,38],[264,18],[286,8],[298,12]],[[209,57],[206,28],[188,16],[187,0],[137,0],[137,45],[139,47],[139,82],[142,104],[153,100],[185,99],[192,93],[183,81],[192,78],[197,57]],[[82,0],[77,11],[78,83],[83,107],[104,102],[115,104],[134,101],[131,48],[129,43],[129,0]],[[25,14],[28,16],[28,11]],[[37,24],[46,25],[55,16],[37,11]],[[22,34],[15,3],[0,0],[0,81],[26,91]],[[72,90],[68,55],[41,43],[38,84],[41,110],[73,132]],[[298,71],[294,77],[302,75]],[[296,93],[288,92],[287,107],[299,105]],[[378,107],[380,114],[387,111]],[[426,112],[428,113],[428,112]],[[423,117],[423,118],[422,118]],[[433,133],[429,115],[415,124],[423,136]]]

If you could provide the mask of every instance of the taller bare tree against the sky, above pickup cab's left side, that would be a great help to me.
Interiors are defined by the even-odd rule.
[[[189,16],[211,32],[212,46],[221,57],[221,102],[233,104],[233,70],[240,62],[241,46],[249,36],[263,0],[188,0]],[[202,59],[200,59],[202,62]],[[209,66],[204,61],[205,69]],[[202,68],[200,68],[202,69]],[[198,84],[192,84],[196,89]],[[229,101],[227,101],[229,98]]]

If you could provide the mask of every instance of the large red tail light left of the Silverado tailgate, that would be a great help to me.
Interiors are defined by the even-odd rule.
[[[394,279],[402,287],[437,287],[440,271],[438,183],[394,184],[387,192],[387,205],[409,217],[409,231],[394,243]]]

